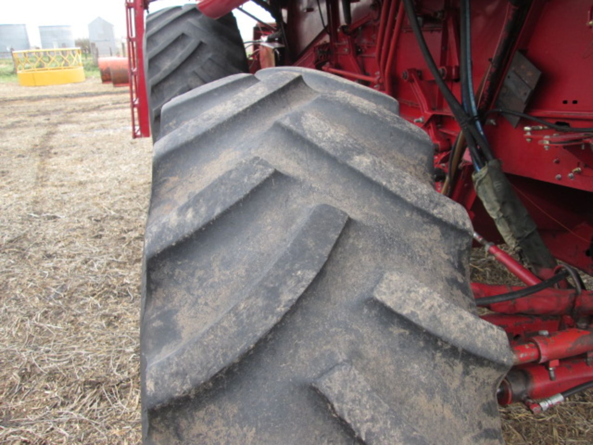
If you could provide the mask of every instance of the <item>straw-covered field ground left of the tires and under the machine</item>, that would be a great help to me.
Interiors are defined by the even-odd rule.
[[[0,443],[140,442],[151,141],[127,89],[0,84]],[[505,282],[476,250],[478,279]],[[502,409],[509,444],[593,443],[593,398]]]

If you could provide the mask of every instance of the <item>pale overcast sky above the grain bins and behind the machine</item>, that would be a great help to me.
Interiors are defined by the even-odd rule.
[[[187,2],[159,0],[152,2],[150,12],[181,5]],[[116,39],[126,35],[126,9],[124,0],[0,0],[0,24],[27,25],[29,42],[40,46],[37,27],[46,25],[71,25],[74,38],[88,37],[88,24],[103,17],[115,27]],[[262,8],[249,2],[245,9],[264,21],[272,18]],[[243,40],[251,40],[254,20],[240,11],[237,17]]]

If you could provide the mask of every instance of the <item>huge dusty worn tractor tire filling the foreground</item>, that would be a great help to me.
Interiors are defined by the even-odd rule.
[[[390,97],[301,68],[162,110],[146,227],[148,444],[499,444],[505,333],[464,209]]]

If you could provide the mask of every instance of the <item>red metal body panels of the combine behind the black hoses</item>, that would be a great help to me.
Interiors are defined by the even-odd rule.
[[[323,69],[396,97],[401,115],[431,136],[436,149],[435,166],[446,171],[449,150],[459,127],[419,53],[401,2],[385,0],[382,5],[372,0],[353,2],[353,21],[349,26],[331,24],[332,20],[340,22],[340,2],[327,0],[320,5],[326,23],[330,23],[328,32],[323,30],[317,8],[311,8],[306,0],[293,0],[286,7],[291,53],[298,54],[293,64]],[[457,2],[423,0],[419,5],[433,57],[449,87],[459,97]],[[560,0],[534,0],[511,49],[511,53],[525,53],[544,72],[528,104],[527,112],[531,115],[573,126],[593,125],[593,93],[583,87],[588,84],[587,73],[593,71],[593,57],[585,57],[584,53],[591,36],[591,28],[586,26],[590,7],[587,0],[569,5]],[[489,59],[501,50],[504,37],[511,32],[509,24],[517,8],[506,0],[473,1],[472,8],[474,85],[480,85],[484,79],[483,90],[486,90],[494,81]],[[562,24],[556,21],[560,16]],[[541,23],[547,26],[540,26]],[[570,29],[570,42],[582,44],[565,51],[567,29]],[[532,129],[525,131],[525,126]],[[589,250],[593,224],[591,206],[586,204],[591,202],[593,191],[592,136],[556,135],[550,129],[534,128],[537,126],[527,120],[521,120],[518,128],[513,128],[503,117],[492,115],[487,120],[486,134],[553,255],[593,274]],[[480,233],[500,242],[495,225],[476,199],[472,171],[471,163],[462,162],[451,198],[466,207]],[[437,184],[438,189],[440,186]]]

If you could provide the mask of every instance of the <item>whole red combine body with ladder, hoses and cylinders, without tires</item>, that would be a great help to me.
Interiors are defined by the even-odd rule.
[[[243,3],[197,8],[218,19]],[[593,274],[591,1],[256,3],[276,23],[254,29],[251,73],[310,68],[395,98],[432,140],[436,190],[466,209],[474,243],[525,283],[471,284],[514,354],[499,403],[538,412],[591,386],[593,293],[576,272]],[[127,2],[134,137],[149,134],[145,9]],[[496,247],[505,241],[528,268]]]

